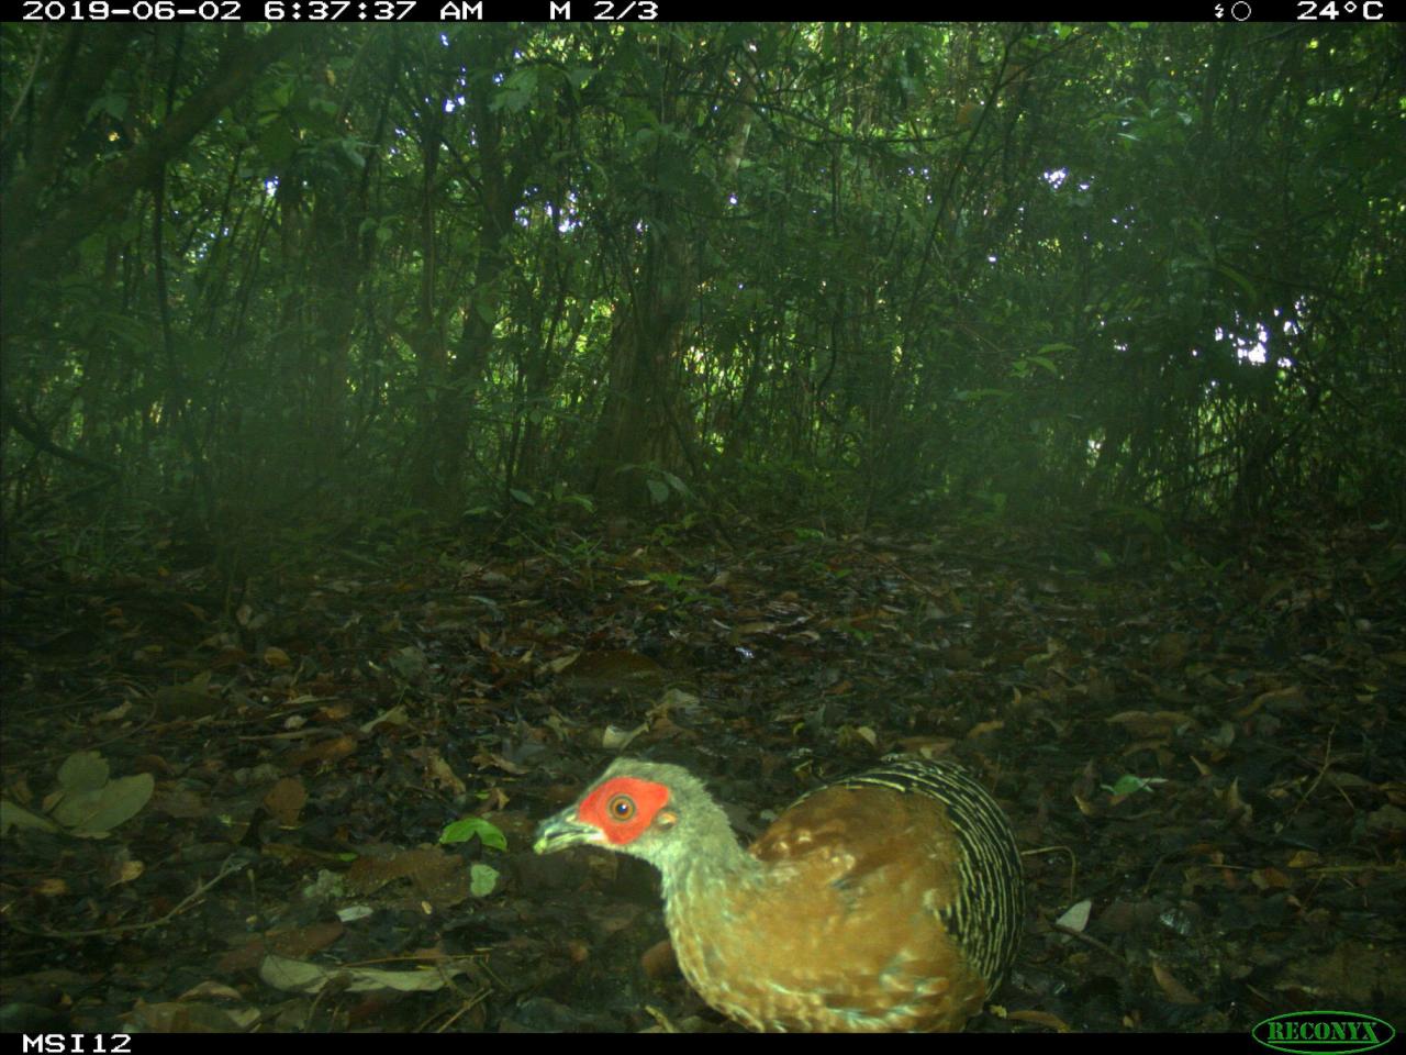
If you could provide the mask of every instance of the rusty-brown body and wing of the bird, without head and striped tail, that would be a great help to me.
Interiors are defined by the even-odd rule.
[[[986,986],[943,923],[959,852],[931,796],[825,788],[756,840],[762,881],[711,904],[675,892],[679,965],[752,1028],[960,1028]]]

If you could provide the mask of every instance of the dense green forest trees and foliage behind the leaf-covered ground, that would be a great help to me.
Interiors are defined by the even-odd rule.
[[[7,24],[8,544],[1400,515],[1403,41]]]

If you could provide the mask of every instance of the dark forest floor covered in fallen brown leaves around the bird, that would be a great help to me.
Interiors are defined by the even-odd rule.
[[[0,1028],[735,1030],[648,867],[531,854],[619,753],[744,838],[967,765],[1029,904],[970,1030],[1406,1028],[1406,542],[748,530],[13,568]]]

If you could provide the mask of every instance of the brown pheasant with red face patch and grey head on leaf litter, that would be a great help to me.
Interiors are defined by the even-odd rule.
[[[1015,834],[946,761],[901,760],[797,799],[744,850],[679,765],[617,758],[533,850],[602,847],[661,875],[683,976],[759,1032],[952,1031],[1015,958]]]

